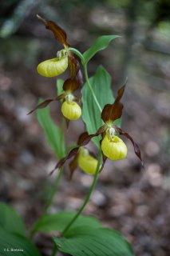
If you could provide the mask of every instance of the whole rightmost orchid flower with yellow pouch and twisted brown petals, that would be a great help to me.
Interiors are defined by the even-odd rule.
[[[125,82],[126,85],[126,82]],[[51,174],[54,170],[57,168],[61,168],[61,166],[64,165],[65,161],[69,158],[72,158],[73,156],[77,155],[78,150],[81,146],[85,146],[89,141],[98,136],[102,135],[101,139],[101,150],[103,153],[103,165],[101,166],[101,170],[103,169],[103,166],[105,164],[105,160],[107,158],[110,158],[111,160],[119,160],[126,157],[127,154],[127,147],[125,146],[125,143],[121,140],[121,138],[117,137],[115,135],[115,132],[118,134],[124,135],[126,138],[128,138],[134,147],[135,154],[138,158],[140,158],[141,164],[143,165],[141,155],[140,155],[140,148],[136,144],[136,142],[133,141],[132,137],[125,133],[121,128],[113,125],[113,122],[117,120],[118,118],[121,118],[122,110],[123,110],[123,104],[121,103],[121,98],[125,91],[125,85],[121,86],[121,89],[118,90],[117,98],[115,99],[115,102],[113,104],[107,104],[105,105],[104,109],[101,112],[101,118],[105,122],[105,125],[101,126],[96,134],[81,134],[78,142],[77,147],[75,147],[73,150],[69,151],[69,154],[62,158],[61,161],[57,162],[57,165],[52,170]]]

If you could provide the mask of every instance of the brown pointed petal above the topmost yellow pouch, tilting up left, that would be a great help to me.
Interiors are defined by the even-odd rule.
[[[37,17],[45,24],[45,28],[47,30],[51,30],[53,32],[54,37],[57,39],[57,41],[61,42],[62,45],[69,47],[69,43],[67,42],[67,34],[65,33],[65,30],[61,29],[60,26],[57,26],[55,22],[45,20],[39,15],[37,15]]]

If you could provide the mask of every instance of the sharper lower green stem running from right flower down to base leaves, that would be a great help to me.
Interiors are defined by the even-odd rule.
[[[94,175],[93,178],[93,182],[92,185],[90,186],[89,192],[85,197],[85,201],[83,202],[82,206],[80,207],[80,209],[77,211],[77,214],[73,217],[73,219],[69,222],[69,224],[65,227],[65,229],[62,231],[61,236],[64,236],[65,233],[69,230],[70,226],[73,225],[73,223],[77,220],[77,218],[80,216],[80,214],[82,213],[82,211],[85,209],[85,206],[87,205],[87,203],[89,202],[89,199],[93,193],[93,190],[96,186],[97,183],[97,177],[98,177],[98,173],[100,170],[100,166],[101,166],[101,151],[99,153],[99,157],[98,157],[98,163],[97,163],[97,170],[96,170],[96,174]]]

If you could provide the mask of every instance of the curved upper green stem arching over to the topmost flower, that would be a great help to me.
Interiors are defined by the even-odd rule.
[[[91,92],[91,94],[93,96],[94,101],[97,104],[98,109],[101,112],[102,111],[101,110],[101,106],[100,106],[99,102],[97,101],[97,97],[94,94],[93,88],[92,88],[92,86],[91,86],[91,84],[89,82],[89,77],[88,77],[88,72],[87,72],[87,64],[85,63],[85,58],[84,58],[83,54],[81,54],[81,52],[79,50],[75,49],[75,48],[69,48],[69,50],[73,51],[73,53],[76,54],[77,57],[81,59],[81,64],[82,64],[82,66],[84,68],[84,72],[85,72],[85,81],[87,83],[87,86],[89,87],[89,90],[90,90],[90,92]]]

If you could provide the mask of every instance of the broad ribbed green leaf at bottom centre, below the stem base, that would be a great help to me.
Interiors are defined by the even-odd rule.
[[[65,238],[53,238],[58,250],[73,256],[134,256],[132,247],[116,230],[79,226]]]

